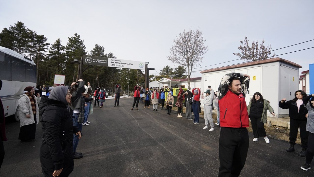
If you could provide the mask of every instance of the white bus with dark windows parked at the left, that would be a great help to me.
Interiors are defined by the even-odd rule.
[[[28,86],[36,87],[36,65],[33,60],[11,49],[0,46],[0,98],[3,103],[4,117],[17,115],[18,100]]]

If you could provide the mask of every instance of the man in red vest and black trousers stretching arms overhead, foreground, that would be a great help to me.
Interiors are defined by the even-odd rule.
[[[249,148],[249,127],[245,96],[250,76],[226,74],[219,85],[217,97],[220,110],[219,177],[239,176]]]

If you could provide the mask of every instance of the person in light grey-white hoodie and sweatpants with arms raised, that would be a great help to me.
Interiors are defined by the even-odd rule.
[[[205,97],[203,94],[206,94]],[[213,100],[214,100],[214,90],[208,88],[205,92],[202,92],[201,99],[204,99],[204,119],[205,119],[205,127],[203,129],[208,128],[208,122],[210,124],[209,131],[214,131],[214,121],[213,121]]]

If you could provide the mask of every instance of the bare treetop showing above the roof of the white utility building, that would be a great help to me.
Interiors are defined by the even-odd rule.
[[[240,45],[238,49],[240,50],[240,53],[233,53],[234,55],[238,56],[241,58],[241,60],[246,60],[246,61],[257,61],[257,60],[265,60],[267,58],[272,58],[276,54],[273,54],[271,56],[271,47],[270,45],[265,46],[264,39],[261,44],[258,45],[258,42],[253,41],[251,47],[249,46],[249,40],[247,40],[247,37],[245,37],[244,41],[240,40],[240,43],[243,45]]]

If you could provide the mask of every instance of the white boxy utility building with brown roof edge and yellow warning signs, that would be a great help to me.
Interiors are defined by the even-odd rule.
[[[299,68],[302,66],[291,61],[272,58],[204,70],[201,71],[201,88],[206,90],[210,85],[216,91],[225,74],[230,72],[248,74],[251,79],[246,95],[246,105],[249,104],[255,92],[260,92],[263,98],[270,101],[270,105],[275,111],[275,117],[287,117],[289,110],[281,109],[278,103],[283,98],[287,100],[295,98],[294,93],[299,90]],[[269,111],[268,116],[272,116]]]

